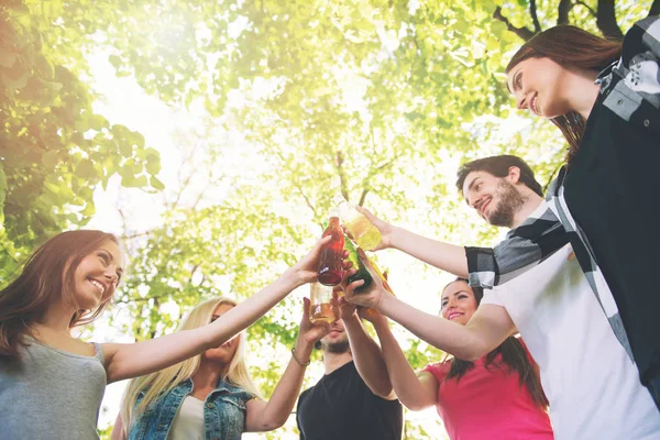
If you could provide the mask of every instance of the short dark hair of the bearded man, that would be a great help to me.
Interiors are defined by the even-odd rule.
[[[510,154],[477,158],[461,165],[457,173],[457,188],[459,188],[460,193],[463,191],[465,178],[472,172],[486,172],[495,177],[506,177],[512,166],[516,166],[520,169],[521,183],[539,196],[543,197],[541,184],[534,177],[534,172],[529,165],[520,157]]]

